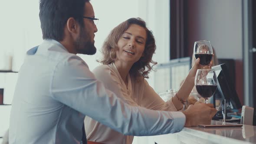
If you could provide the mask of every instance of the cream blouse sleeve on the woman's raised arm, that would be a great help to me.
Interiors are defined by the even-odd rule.
[[[145,79],[144,93],[139,105],[152,110],[177,111],[177,108],[174,106],[172,99],[164,102]]]

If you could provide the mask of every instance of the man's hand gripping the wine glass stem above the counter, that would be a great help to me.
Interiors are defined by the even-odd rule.
[[[185,127],[196,127],[198,124],[210,124],[216,112],[217,110],[213,108],[213,104],[196,102],[183,112],[186,116]]]

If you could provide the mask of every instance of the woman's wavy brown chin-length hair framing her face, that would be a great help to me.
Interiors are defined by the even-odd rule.
[[[141,18],[130,18],[120,23],[110,32],[102,46],[103,58],[98,60],[98,62],[102,62],[104,65],[115,62],[116,51],[118,50],[118,40],[122,34],[131,26],[131,24],[136,24],[143,27],[146,30],[147,39],[143,55],[137,62],[132,65],[129,73],[135,77],[143,76],[144,78],[148,78],[149,72],[153,70],[152,66],[157,64],[157,62],[152,60],[156,45],[152,31],[146,27],[146,23]],[[153,65],[151,66],[150,63]]]

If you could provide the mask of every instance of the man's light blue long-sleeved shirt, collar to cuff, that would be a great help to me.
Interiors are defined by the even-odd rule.
[[[178,132],[185,123],[182,112],[125,104],[55,40],[30,49],[13,97],[10,144],[79,144],[85,115],[137,136]]]

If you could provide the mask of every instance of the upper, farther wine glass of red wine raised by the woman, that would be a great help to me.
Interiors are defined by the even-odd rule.
[[[213,48],[210,44],[210,41],[201,40],[195,42],[194,55],[196,59],[200,58],[201,65],[209,65],[213,56]]]

